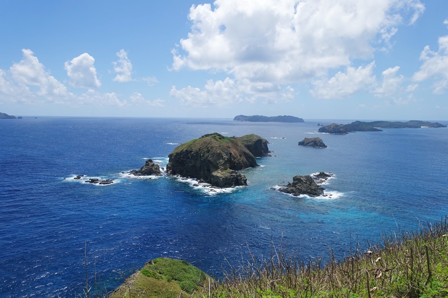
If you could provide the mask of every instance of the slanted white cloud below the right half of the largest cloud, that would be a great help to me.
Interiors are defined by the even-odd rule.
[[[319,79],[313,82],[314,90],[310,93],[317,98],[333,99],[344,98],[356,91],[368,89],[375,82],[373,68],[375,62],[366,67],[347,67],[346,72],[338,72],[330,79]]]

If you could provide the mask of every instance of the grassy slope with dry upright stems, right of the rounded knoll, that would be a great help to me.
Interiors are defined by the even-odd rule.
[[[274,249],[261,263],[253,257],[231,268],[211,297],[448,297],[447,229],[445,219],[419,232],[383,236],[342,262],[330,254],[325,264]]]

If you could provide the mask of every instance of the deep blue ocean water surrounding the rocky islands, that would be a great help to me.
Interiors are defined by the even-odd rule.
[[[225,258],[238,265],[249,249],[269,256],[281,239],[302,257],[333,250],[341,259],[350,241],[367,246],[381,233],[448,215],[447,128],[328,135],[317,133],[318,122],[351,120],[305,121],[0,120],[0,297],[79,297],[85,251],[90,285],[97,272],[112,292],[123,282],[116,272],[129,276],[157,257],[187,260],[219,278]],[[247,187],[211,193],[172,176],[122,174],[146,158],[164,166],[178,144],[214,132],[271,143],[273,156],[243,171]],[[317,136],[327,149],[297,145]],[[331,198],[271,189],[320,171],[335,175],[324,185]],[[90,177],[115,183],[85,183]]]

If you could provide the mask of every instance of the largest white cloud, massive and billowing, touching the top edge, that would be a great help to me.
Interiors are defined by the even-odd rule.
[[[174,70],[212,70],[251,82],[290,83],[371,58],[419,0],[216,0],[190,8],[192,30],[173,49]]]

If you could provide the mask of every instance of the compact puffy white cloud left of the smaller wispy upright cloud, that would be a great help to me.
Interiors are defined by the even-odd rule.
[[[70,84],[81,88],[100,87],[101,82],[97,78],[97,69],[94,63],[95,59],[87,53],[66,62],[64,65],[70,78]]]

